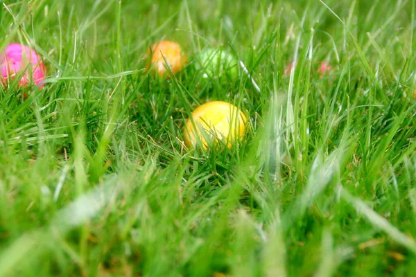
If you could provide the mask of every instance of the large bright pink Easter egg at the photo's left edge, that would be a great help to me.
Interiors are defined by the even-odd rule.
[[[0,71],[0,81],[3,84],[20,75],[19,86],[30,85],[33,80],[38,87],[44,87],[46,69],[40,55],[28,46],[9,44],[0,54]]]

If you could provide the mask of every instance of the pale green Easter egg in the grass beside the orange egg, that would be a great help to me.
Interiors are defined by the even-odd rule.
[[[202,79],[235,80],[239,76],[238,60],[222,49],[205,49],[197,55],[193,64],[196,72],[202,74]]]

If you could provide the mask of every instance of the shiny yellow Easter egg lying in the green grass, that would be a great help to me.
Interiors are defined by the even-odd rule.
[[[207,102],[192,112],[184,130],[184,142],[189,148],[202,143],[203,148],[223,141],[228,148],[243,139],[247,118],[234,105],[223,101]]]

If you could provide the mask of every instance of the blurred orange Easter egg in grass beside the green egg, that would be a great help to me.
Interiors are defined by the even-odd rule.
[[[179,44],[168,40],[153,44],[148,50],[148,55],[151,55],[150,64],[153,64],[153,69],[162,77],[169,75],[167,66],[175,74],[181,71],[184,64],[187,63],[187,57],[185,57]],[[147,67],[148,69],[150,64]]]

